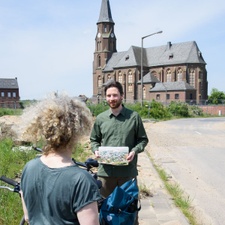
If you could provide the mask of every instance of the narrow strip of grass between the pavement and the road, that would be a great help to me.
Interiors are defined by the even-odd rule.
[[[161,180],[163,181],[165,188],[171,195],[174,204],[182,211],[185,217],[189,220],[191,225],[199,225],[197,218],[194,215],[193,207],[191,205],[192,200],[189,196],[187,196],[184,191],[180,188],[180,186],[171,181],[168,178],[167,173],[158,165],[156,165],[151,158],[150,154],[148,154],[151,161],[153,162],[153,166],[155,167],[156,171],[158,172]]]

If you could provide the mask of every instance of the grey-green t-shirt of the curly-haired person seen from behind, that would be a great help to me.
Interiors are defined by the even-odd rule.
[[[79,224],[76,212],[101,199],[94,178],[76,165],[49,168],[40,158],[24,167],[21,178],[30,224]]]

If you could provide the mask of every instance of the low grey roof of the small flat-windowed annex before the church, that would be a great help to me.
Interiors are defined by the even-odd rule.
[[[176,82],[160,82],[156,83],[155,87],[150,89],[150,92],[159,92],[159,91],[184,91],[184,90],[196,90],[190,84],[185,81],[176,81]]]

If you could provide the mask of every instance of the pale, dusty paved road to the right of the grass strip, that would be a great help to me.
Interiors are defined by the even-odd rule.
[[[190,196],[201,224],[225,224],[225,118],[154,124],[151,155]]]

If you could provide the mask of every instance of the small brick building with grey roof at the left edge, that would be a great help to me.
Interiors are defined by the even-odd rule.
[[[20,108],[17,78],[0,78],[0,108]]]

